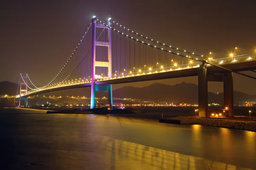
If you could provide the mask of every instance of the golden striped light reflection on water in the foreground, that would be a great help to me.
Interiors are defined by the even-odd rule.
[[[114,165],[114,169],[122,169],[125,165],[125,167],[135,167],[137,170],[146,169],[145,167],[161,170],[249,170],[232,164],[210,161],[109,137],[102,139],[102,145],[105,144],[107,145],[104,150],[105,159]]]

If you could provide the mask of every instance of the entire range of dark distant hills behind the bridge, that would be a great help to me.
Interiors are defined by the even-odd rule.
[[[0,95],[15,95],[17,91],[17,84],[13,82],[0,82]],[[44,94],[43,94],[44,95]],[[74,96],[90,96],[90,88],[79,88],[66,91],[56,91],[45,94],[49,95],[74,95]],[[97,97],[107,96],[106,92],[96,92]],[[147,87],[136,88],[132,86],[125,86],[113,91],[113,97],[133,98],[133,99],[153,99],[165,102],[186,102],[198,103],[198,85],[192,83],[182,82],[176,85],[165,85],[161,83],[154,83]],[[244,94],[239,91],[234,91],[234,104],[241,104],[245,101],[255,101],[256,95]],[[223,93],[215,94],[208,92],[208,103],[220,103],[223,105]]]

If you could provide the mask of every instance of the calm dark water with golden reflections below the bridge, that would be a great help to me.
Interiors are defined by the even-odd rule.
[[[4,108],[0,134],[3,169],[256,169],[256,133],[242,130]]]

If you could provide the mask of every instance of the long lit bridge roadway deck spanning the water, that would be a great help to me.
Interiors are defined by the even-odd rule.
[[[253,57],[250,60],[248,59],[242,59],[242,60],[236,60],[230,61],[230,62],[223,62],[222,64],[216,64],[220,65],[224,68],[228,68],[233,71],[250,71],[250,70],[256,70],[256,58]],[[200,65],[201,67],[201,65]],[[152,74],[140,74],[139,76],[131,76],[131,77],[124,77],[124,78],[114,78],[114,79],[107,79],[107,80],[99,80],[95,83],[97,85],[109,85],[109,84],[122,84],[122,83],[129,83],[129,82],[143,82],[143,81],[150,81],[150,80],[158,80],[158,79],[172,79],[172,78],[179,78],[179,77],[192,77],[192,76],[198,76],[199,67],[196,68],[183,68],[179,70],[174,71],[164,71],[164,72],[158,72],[158,73],[152,73]],[[215,67],[212,65],[207,65],[207,72],[208,74],[222,74],[225,72],[229,72],[223,68]],[[61,90],[67,90],[67,89],[74,89],[74,88],[84,88],[84,87],[90,87],[91,83],[81,83],[76,85],[67,85],[63,87],[56,87],[56,88],[50,88],[45,89],[41,91],[35,91],[32,93],[28,93],[26,95],[23,95],[22,97],[29,97],[34,96],[38,94],[44,94],[49,93],[53,91],[61,91]]]

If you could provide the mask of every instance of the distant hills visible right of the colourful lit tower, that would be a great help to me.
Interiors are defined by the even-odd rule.
[[[113,96],[120,98],[154,99],[166,102],[198,103],[198,85],[182,82],[176,85],[154,83],[147,87],[126,86],[113,91]],[[256,95],[234,91],[234,103],[256,100]],[[208,92],[208,103],[223,104],[224,95]]]

